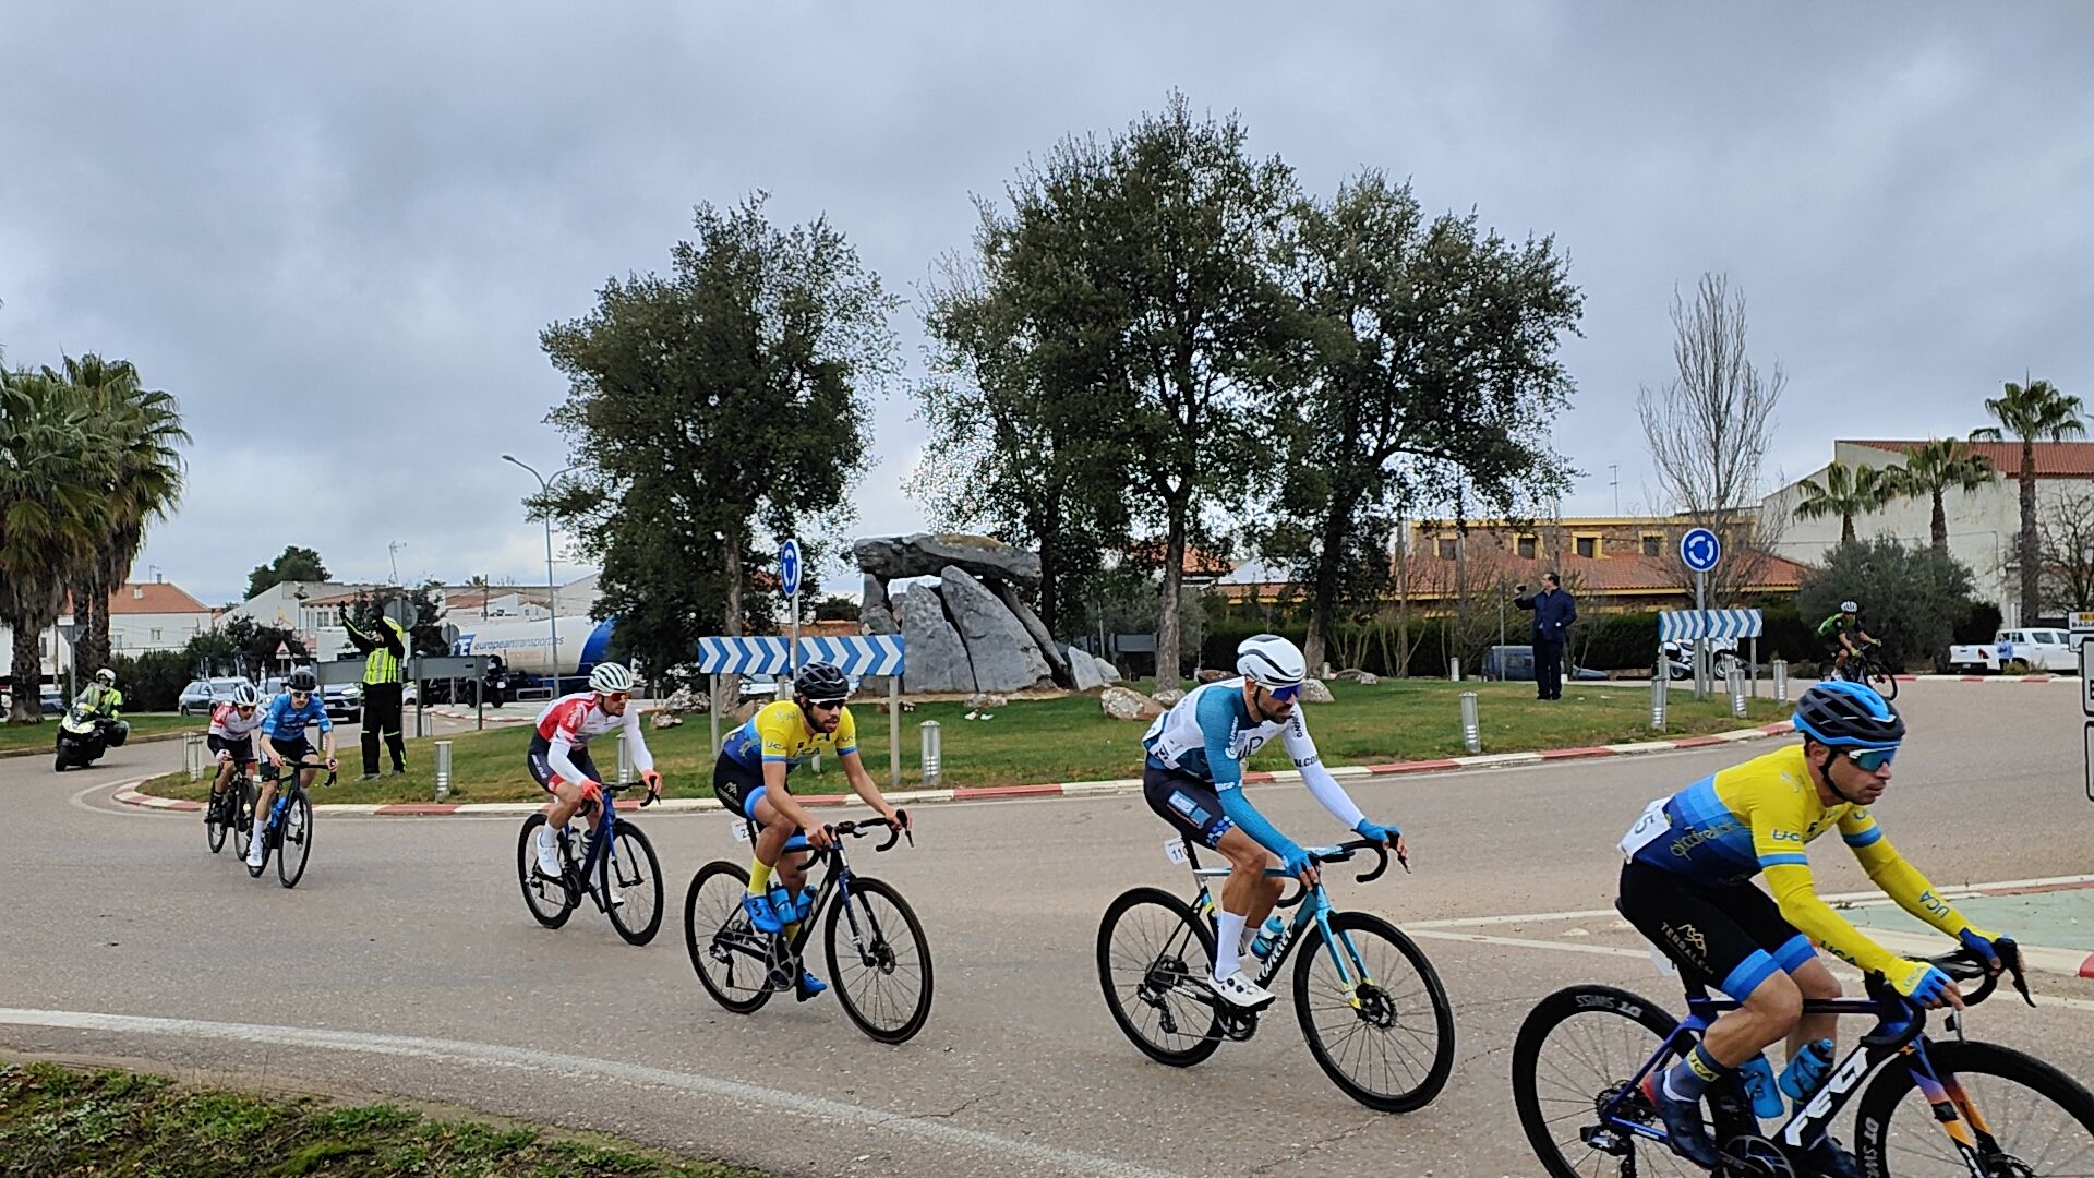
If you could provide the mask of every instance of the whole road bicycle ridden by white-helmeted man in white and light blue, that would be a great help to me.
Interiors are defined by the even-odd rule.
[[[1215,895],[1208,880],[1229,868],[1202,868],[1191,838],[1166,843],[1171,861],[1191,866],[1191,903],[1154,887],[1122,893],[1097,926],[1097,981],[1120,1031],[1158,1063],[1191,1067],[1227,1042],[1246,1042],[1258,1012],[1217,998],[1202,981],[1215,962]],[[1388,849],[1374,841],[1313,847],[1315,864],[1342,864],[1374,851],[1374,882],[1388,870]],[[1277,868],[1267,876],[1292,878]],[[1305,903],[1307,901],[1307,903]],[[1294,920],[1267,950],[1258,985],[1294,958],[1294,1015],[1317,1067],[1346,1096],[1382,1113],[1432,1103],[1453,1073],[1453,1006],[1439,973],[1401,929],[1367,912],[1338,912],[1323,885],[1296,889],[1277,908]]]

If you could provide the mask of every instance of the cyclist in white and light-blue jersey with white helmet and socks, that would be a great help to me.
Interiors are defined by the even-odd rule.
[[[1359,813],[1323,767],[1296,708],[1307,675],[1302,652],[1275,633],[1252,635],[1235,648],[1235,671],[1238,679],[1202,683],[1156,717],[1141,738],[1150,752],[1141,792],[1158,817],[1229,859],[1233,870],[1215,914],[1215,973],[1204,981],[1223,1002],[1261,1010],[1273,1002],[1273,991],[1242,973],[1242,956],[1244,929],[1263,924],[1279,901],[1282,880],[1265,870],[1284,866],[1302,887],[1315,885],[1317,870],[1309,853],[1244,797],[1244,761],[1277,736],[1302,784],[1338,822],[1397,855],[1409,855],[1409,847],[1395,826]]]

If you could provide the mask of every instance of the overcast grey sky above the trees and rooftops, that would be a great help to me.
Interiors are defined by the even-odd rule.
[[[180,396],[191,490],[140,579],[220,604],[302,543],[381,581],[402,541],[402,579],[542,581],[496,457],[561,465],[538,331],[666,268],[693,203],[827,214],[911,298],[913,379],[972,195],[1177,86],[1309,191],[1374,166],[1556,235],[1564,511],[1604,514],[1608,463],[1650,505],[1635,390],[1702,270],[1790,377],[1769,470],[1962,434],[2025,369],[2094,398],[2090,48],[2084,4],[0,0],[0,346]],[[859,530],[917,528],[905,386],[875,423]]]

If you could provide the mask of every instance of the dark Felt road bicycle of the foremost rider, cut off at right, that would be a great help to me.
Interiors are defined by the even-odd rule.
[[[2014,989],[2033,1006],[2012,941],[1998,941]],[[1926,1035],[1926,1010],[1880,975],[1868,998],[1805,1000],[1805,1015],[1872,1015],[1874,1029],[1826,1073],[1774,1132],[1763,1132],[1734,1075],[1709,1088],[1721,1178],[1813,1174],[1801,1155],[1855,1094],[1855,1159],[1868,1178],[2033,1178],[2094,1174],[2094,1096],[2029,1054],[1964,1038],[1968,1008],[2000,977],[1968,950],[1926,958],[1958,981],[1985,979],[1947,1019],[1954,1040]],[[1738,1002],[1688,987],[1688,1017],[1610,985],[1573,985],[1541,1000],[1512,1046],[1512,1100],[1552,1178],[1702,1174],[1671,1153],[1644,1077],[1681,1059]],[[1864,1079],[1874,1073],[1868,1088]]]

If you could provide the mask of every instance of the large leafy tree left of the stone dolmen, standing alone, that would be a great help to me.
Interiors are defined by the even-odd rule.
[[[869,396],[896,371],[879,277],[827,220],[777,228],[762,205],[699,205],[666,277],[611,279],[540,335],[570,381],[549,421],[576,474],[532,509],[601,560],[599,612],[662,673],[768,618],[775,591],[745,591],[764,535],[819,558],[850,518]]]

